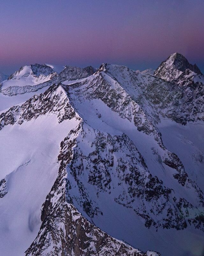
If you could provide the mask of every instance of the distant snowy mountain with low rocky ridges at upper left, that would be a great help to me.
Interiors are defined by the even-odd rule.
[[[50,66],[55,71],[56,69],[59,71],[62,68],[54,65]],[[52,84],[60,82],[69,84],[69,81],[78,81],[96,71],[91,66],[86,68],[65,66],[64,70],[62,68],[62,71],[57,74],[50,66],[40,64],[23,66],[12,74],[8,80],[5,80],[0,87],[0,111],[11,107],[13,104],[28,100],[36,92],[45,92]]]

